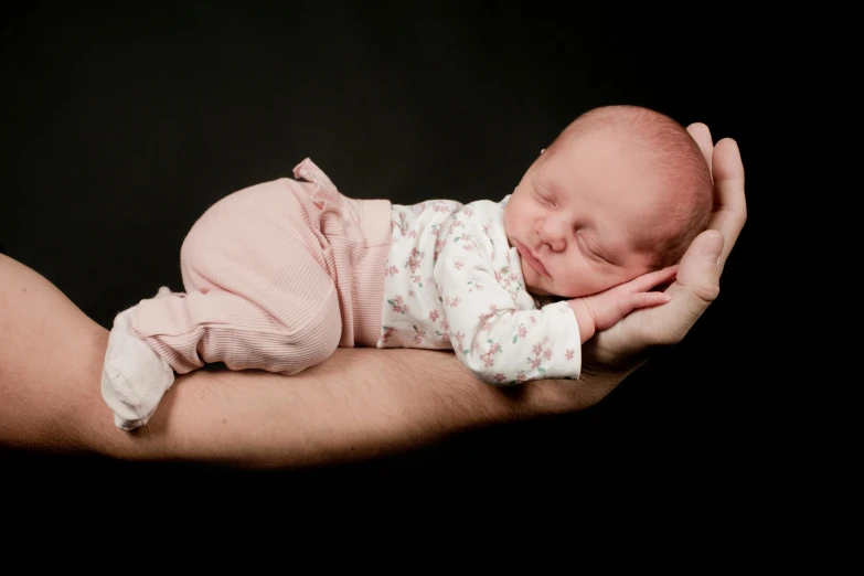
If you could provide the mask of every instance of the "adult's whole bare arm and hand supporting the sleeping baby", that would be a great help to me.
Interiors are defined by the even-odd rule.
[[[295,376],[231,371],[180,376],[146,429],[129,434],[114,426],[99,393],[108,332],[44,277],[0,255],[0,447],[300,468],[593,406],[652,349],[686,335],[718,296],[723,265],[746,221],[737,145],[724,139],[713,147],[706,126],[687,129],[710,164],[713,158],[711,230],[679,265],[665,291],[672,300],[636,310],[585,344],[579,381],[502,390],[474,378],[448,352],[339,349]]]

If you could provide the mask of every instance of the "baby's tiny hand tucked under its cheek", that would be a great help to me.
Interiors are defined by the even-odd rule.
[[[670,266],[619,284],[602,292],[569,300],[579,324],[582,342],[588,341],[595,332],[611,328],[633,310],[666,303],[671,300],[670,296],[650,290],[672,281],[676,273],[678,265]]]

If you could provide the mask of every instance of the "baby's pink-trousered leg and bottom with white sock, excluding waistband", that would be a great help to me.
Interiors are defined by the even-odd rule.
[[[103,396],[117,426],[147,423],[173,373],[205,362],[295,374],[328,358],[342,322],[329,248],[295,181],[232,194],[181,249],[188,294],[161,294],[118,314]]]

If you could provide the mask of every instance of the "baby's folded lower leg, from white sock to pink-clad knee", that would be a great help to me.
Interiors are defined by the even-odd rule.
[[[292,375],[323,362],[342,332],[332,282],[320,301],[295,316],[299,323],[220,290],[162,292],[121,312],[109,335],[102,380],[115,424],[127,430],[147,424],[174,372],[223,362],[232,370]]]

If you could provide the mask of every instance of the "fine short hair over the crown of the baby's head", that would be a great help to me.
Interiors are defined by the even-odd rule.
[[[596,130],[612,130],[631,137],[652,156],[663,181],[680,190],[678,201],[666,207],[680,223],[681,234],[658,238],[650,246],[659,252],[658,268],[681,259],[690,244],[708,225],[714,207],[711,169],[686,128],[669,116],[642,106],[602,106],[582,114],[567,126],[550,148]]]

